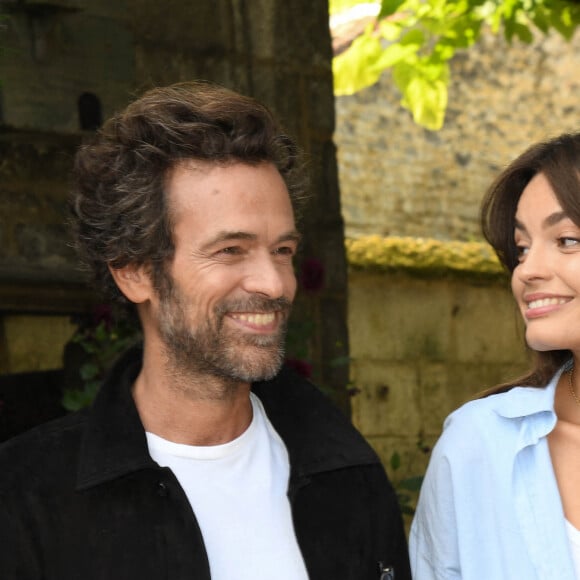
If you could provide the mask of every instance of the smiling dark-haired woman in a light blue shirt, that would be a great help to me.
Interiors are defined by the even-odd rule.
[[[413,578],[580,579],[580,133],[518,157],[482,226],[535,363],[445,421],[411,528]]]

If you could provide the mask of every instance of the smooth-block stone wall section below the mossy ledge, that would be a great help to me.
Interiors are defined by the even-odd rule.
[[[424,473],[444,418],[521,374],[528,355],[507,284],[349,274],[353,421],[391,476]]]

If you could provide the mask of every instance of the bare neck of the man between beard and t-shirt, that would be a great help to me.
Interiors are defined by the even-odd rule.
[[[146,352],[133,399],[145,430],[174,443],[227,443],[252,420],[249,384],[172,372]]]

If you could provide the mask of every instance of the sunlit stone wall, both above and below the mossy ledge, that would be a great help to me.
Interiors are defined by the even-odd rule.
[[[390,73],[336,99],[347,237],[480,238],[481,198],[532,142],[580,130],[580,33],[508,45],[485,34],[451,63],[445,126],[430,132],[399,105]],[[353,420],[395,480],[423,473],[443,420],[527,367],[507,285],[349,273]],[[420,445],[418,446],[418,443]]]

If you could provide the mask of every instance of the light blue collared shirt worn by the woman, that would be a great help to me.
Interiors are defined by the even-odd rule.
[[[411,526],[414,580],[576,579],[546,438],[561,373],[446,419]]]

